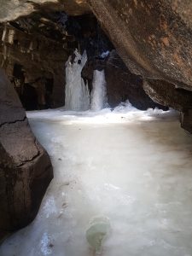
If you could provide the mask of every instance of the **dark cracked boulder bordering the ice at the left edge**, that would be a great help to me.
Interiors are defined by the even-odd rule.
[[[35,218],[53,177],[49,156],[0,70],[0,241]]]

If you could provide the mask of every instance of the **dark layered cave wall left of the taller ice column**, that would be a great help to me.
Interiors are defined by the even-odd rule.
[[[65,62],[73,51],[68,46],[72,38],[61,40],[56,24],[47,23],[41,26],[43,22],[34,17],[0,26],[1,67],[27,110],[64,104]]]

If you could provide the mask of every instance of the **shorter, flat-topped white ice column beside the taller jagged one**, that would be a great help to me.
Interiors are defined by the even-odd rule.
[[[93,89],[91,91],[90,99],[91,110],[99,111],[106,107],[108,100],[104,70],[95,70],[93,73]]]

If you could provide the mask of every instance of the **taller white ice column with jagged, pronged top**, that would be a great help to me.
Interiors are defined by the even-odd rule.
[[[75,58],[72,63],[72,56],[66,63],[66,97],[65,109],[84,111],[90,108],[90,91],[88,84],[84,84],[81,71],[87,61],[86,51],[80,55],[78,50],[74,51]]]

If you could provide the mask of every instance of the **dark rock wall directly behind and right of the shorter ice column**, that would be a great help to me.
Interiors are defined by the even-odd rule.
[[[90,60],[85,65],[82,76],[88,80],[91,90],[93,71],[104,70],[107,82],[108,104],[114,108],[120,102],[129,100],[132,106],[146,110],[148,108],[161,108],[165,106],[152,101],[143,90],[143,79],[141,76],[132,74],[125,63],[121,60],[116,50],[112,50],[107,58],[103,60]],[[163,104],[164,105],[164,104]]]

